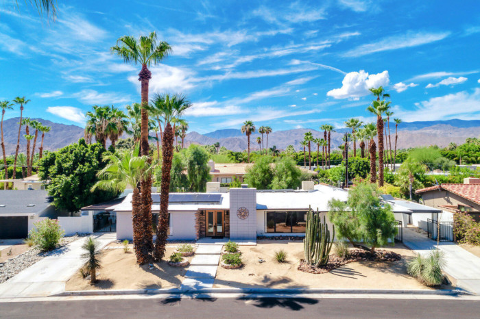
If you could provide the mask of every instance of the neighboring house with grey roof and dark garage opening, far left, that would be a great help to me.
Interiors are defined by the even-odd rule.
[[[46,190],[0,192],[0,239],[26,238],[34,222],[42,218],[57,218]]]

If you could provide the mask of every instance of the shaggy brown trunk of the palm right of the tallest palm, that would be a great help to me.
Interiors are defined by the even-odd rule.
[[[160,214],[156,227],[154,258],[160,260],[165,255],[168,238],[168,203],[170,194],[170,172],[173,159],[173,130],[170,123],[165,125],[162,140],[162,182],[160,184]]]

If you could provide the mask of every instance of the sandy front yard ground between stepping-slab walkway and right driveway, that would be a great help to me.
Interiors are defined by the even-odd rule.
[[[275,251],[287,252],[287,263],[274,259]],[[407,274],[407,260],[415,254],[403,244],[385,249],[402,255],[400,261],[359,261],[325,274],[297,270],[303,255],[302,242],[259,240],[256,246],[240,246],[244,266],[239,269],[219,267],[214,288],[357,288],[357,289],[426,289]],[[335,251],[335,247],[332,248]],[[259,257],[265,259],[259,263]]]

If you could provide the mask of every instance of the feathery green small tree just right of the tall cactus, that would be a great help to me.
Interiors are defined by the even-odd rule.
[[[376,247],[393,241],[396,235],[392,207],[383,205],[379,196],[376,184],[364,181],[348,192],[347,203],[328,201],[328,218],[339,237],[372,253]],[[360,240],[370,248],[357,245]]]

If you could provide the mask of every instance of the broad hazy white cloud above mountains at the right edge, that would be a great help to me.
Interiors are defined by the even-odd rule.
[[[464,120],[480,119],[480,88],[470,94],[467,91],[433,97],[428,101],[415,103],[414,110],[403,110],[394,107],[396,116],[407,122],[422,120],[448,120],[459,118]]]

